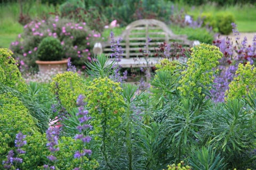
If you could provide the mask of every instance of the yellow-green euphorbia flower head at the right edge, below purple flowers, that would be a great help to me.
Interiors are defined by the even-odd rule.
[[[244,98],[250,90],[255,90],[256,68],[247,62],[245,65],[239,63],[234,79],[229,84],[226,91],[227,99]]]

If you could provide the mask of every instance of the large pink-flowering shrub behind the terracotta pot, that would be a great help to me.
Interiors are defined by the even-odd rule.
[[[70,58],[78,68],[84,68],[84,62],[91,56],[94,41],[101,35],[90,30],[86,23],[75,23],[58,16],[42,21],[31,21],[24,31],[11,43],[10,49],[19,63],[21,71],[37,70],[37,49],[45,37],[58,38],[64,48],[63,58]]]

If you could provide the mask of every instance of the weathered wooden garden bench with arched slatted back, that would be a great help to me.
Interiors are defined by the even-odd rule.
[[[115,37],[116,40],[118,38],[122,39],[120,45],[124,50],[123,58],[118,64],[124,68],[154,66],[162,58],[145,56],[143,52],[155,54],[155,50],[163,42],[175,41],[186,47],[191,47],[194,43],[194,41],[188,40],[186,35],[175,35],[165,23],[154,19],[143,19],[130,23],[119,37]],[[94,54],[113,53],[110,48],[110,39],[108,43],[96,43],[93,52]]]

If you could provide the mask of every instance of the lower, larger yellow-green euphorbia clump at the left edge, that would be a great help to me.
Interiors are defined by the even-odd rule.
[[[5,160],[9,150],[14,148],[15,135],[19,132],[29,135],[37,128],[28,109],[11,92],[0,94],[0,113],[0,160]],[[2,164],[0,169],[3,169]]]

